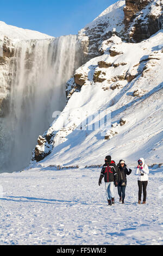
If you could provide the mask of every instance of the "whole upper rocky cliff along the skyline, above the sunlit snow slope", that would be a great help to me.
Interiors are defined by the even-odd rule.
[[[162,0],[118,1],[79,31],[84,63],[99,56],[102,42],[116,34],[123,41],[140,42],[163,26]]]

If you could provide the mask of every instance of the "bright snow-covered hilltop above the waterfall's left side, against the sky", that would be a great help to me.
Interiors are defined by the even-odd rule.
[[[53,36],[49,36],[37,31],[32,31],[29,29],[18,28],[15,26],[7,25],[5,22],[0,21],[0,39],[8,36],[8,38],[14,40],[30,40],[30,39],[47,39],[53,38]]]

